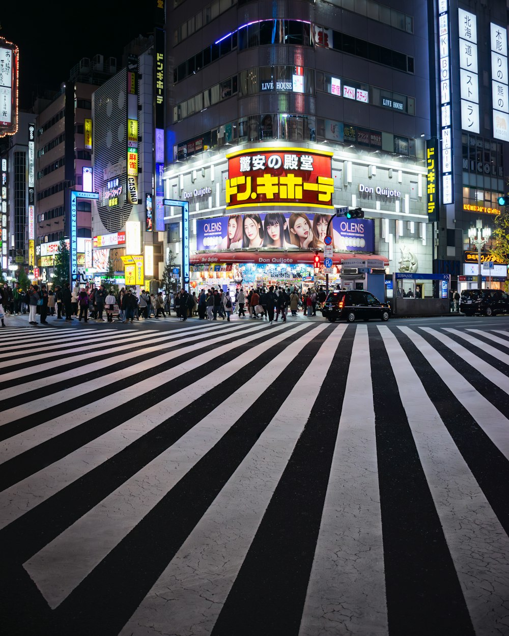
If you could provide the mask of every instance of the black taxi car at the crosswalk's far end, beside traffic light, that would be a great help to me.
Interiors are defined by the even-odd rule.
[[[351,291],[331,291],[322,308],[322,315],[330,322],[344,318],[353,322],[359,318],[369,320],[379,318],[389,320],[391,307],[388,303],[380,303],[369,291],[352,289]]]

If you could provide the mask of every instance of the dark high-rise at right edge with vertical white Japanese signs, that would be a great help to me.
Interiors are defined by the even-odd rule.
[[[507,6],[503,0],[434,0],[430,18],[431,119],[436,152],[435,270],[451,273],[459,289],[503,287],[507,263],[489,247],[498,197],[507,193],[509,92]],[[431,13],[430,13],[431,16]],[[488,240],[478,245],[481,238]],[[484,235],[483,235],[484,230]],[[488,230],[488,232],[486,232]],[[486,263],[486,265],[484,265]]]

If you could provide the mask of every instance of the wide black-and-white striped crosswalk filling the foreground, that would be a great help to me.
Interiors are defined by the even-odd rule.
[[[496,323],[3,336],[4,633],[509,633]]]

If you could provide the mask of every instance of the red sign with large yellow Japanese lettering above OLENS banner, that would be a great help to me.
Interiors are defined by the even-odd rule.
[[[307,148],[261,148],[227,155],[227,209],[251,205],[333,207],[332,155]]]

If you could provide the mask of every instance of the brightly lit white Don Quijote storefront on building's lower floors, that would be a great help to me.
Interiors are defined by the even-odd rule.
[[[166,197],[189,204],[194,289],[307,289],[324,285],[328,274],[330,287],[391,296],[393,272],[432,272],[422,160],[269,142],[222,156],[204,151],[168,167],[164,183]],[[344,207],[361,207],[365,217],[336,216],[335,209]],[[165,248],[178,263],[181,210],[166,207],[164,214]],[[331,218],[333,253],[326,268]]]

